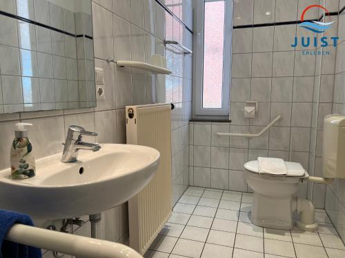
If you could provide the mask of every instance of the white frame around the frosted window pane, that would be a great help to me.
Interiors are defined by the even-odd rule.
[[[193,87],[194,87],[194,118],[201,116],[213,116],[214,118],[230,118],[230,82],[231,82],[231,47],[233,38],[233,0],[224,0],[224,32],[230,31],[230,35],[224,33],[224,54],[223,54],[223,85],[221,108],[204,108],[203,87],[204,87],[204,13],[205,2],[221,0],[195,1],[195,32],[194,34],[194,68],[193,68]]]

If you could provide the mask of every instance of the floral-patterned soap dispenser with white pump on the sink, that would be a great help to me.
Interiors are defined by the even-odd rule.
[[[26,122],[16,124],[15,138],[12,142],[10,153],[11,178],[16,180],[32,178],[36,172],[32,144],[28,138],[28,129],[25,128],[27,125],[31,126],[32,124]]]

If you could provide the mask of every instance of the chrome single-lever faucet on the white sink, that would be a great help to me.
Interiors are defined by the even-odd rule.
[[[89,151],[99,151],[101,146],[95,143],[83,142],[83,136],[98,136],[98,133],[92,131],[85,131],[83,127],[71,125],[68,127],[65,147],[63,148],[61,162],[75,162],[79,149],[86,149]]]

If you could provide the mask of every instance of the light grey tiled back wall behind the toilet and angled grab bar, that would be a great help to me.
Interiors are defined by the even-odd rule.
[[[316,131],[322,130],[322,127],[315,126],[313,112],[318,115],[318,122],[332,111],[335,51],[322,60],[316,60],[315,55],[302,55],[300,47],[294,50],[290,46],[295,35],[313,36],[297,27],[297,20],[306,6],[319,3],[331,12],[339,7],[337,0],[326,3],[323,0],[234,1],[230,88],[232,122],[230,125],[215,122],[191,124],[191,185],[250,191],[244,179],[243,164],[258,156],[300,162],[311,175],[314,175],[314,168],[315,175],[319,175],[319,147],[317,155],[309,155],[311,143],[315,142],[316,149],[316,142],[319,146],[322,140],[320,137],[316,140]],[[311,10],[307,12],[306,19],[315,19],[320,15]],[[286,21],[295,23],[258,25]],[[335,25],[333,31],[327,33],[336,34],[336,29]],[[318,80],[321,84],[317,83]],[[319,85],[322,85],[320,94]],[[246,100],[259,102],[259,111],[253,119],[244,118],[242,109]],[[215,134],[217,131],[257,133],[277,114],[282,119],[259,138],[229,139]],[[318,124],[322,125],[322,122]],[[308,198],[317,208],[323,208],[325,186],[308,186],[304,182],[299,189],[299,197],[307,197],[308,189]]]

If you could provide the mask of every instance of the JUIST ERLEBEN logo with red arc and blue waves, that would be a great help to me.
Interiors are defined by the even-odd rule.
[[[331,50],[319,50],[319,47],[337,47],[337,43],[339,41],[338,36],[321,36],[319,34],[324,33],[326,30],[331,28],[331,25],[335,21],[331,21],[328,23],[323,23],[321,21],[315,21],[315,20],[308,20],[306,21],[304,19],[304,16],[306,15],[306,12],[308,10],[311,10],[311,8],[319,8],[324,11],[324,17],[328,16],[331,17],[330,13],[324,6],[319,6],[319,5],[313,5],[313,6],[308,6],[305,8],[302,12],[301,16],[301,23],[299,23],[300,30],[303,28],[304,30],[307,30],[309,32],[314,32],[315,36],[295,36],[295,41],[291,45],[291,47],[297,47],[301,46],[302,47],[302,54],[303,55],[329,55],[331,54]],[[315,47],[316,50],[303,50],[303,47]]]

